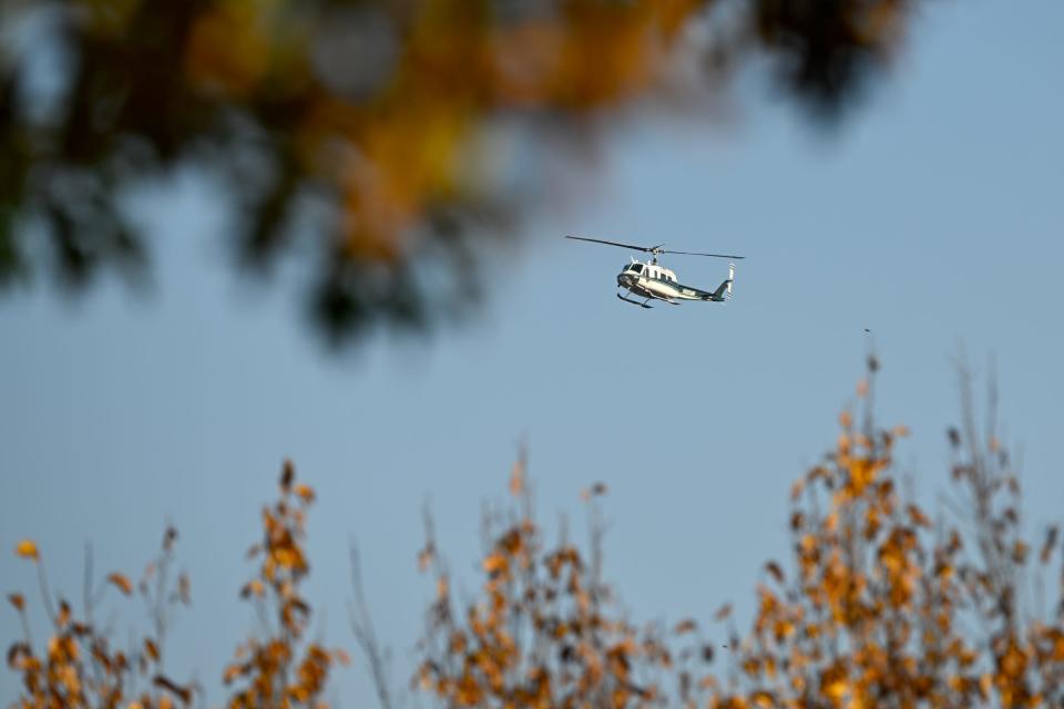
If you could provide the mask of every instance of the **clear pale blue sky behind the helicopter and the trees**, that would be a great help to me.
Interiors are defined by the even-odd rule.
[[[320,495],[316,627],[354,650],[354,537],[406,685],[432,593],[416,566],[421,505],[457,585],[472,588],[481,506],[504,499],[526,441],[549,528],[564,513],[582,530],[580,490],[610,486],[607,576],[634,618],[708,619],[733,600],[745,624],[761,565],[786,552],[789,484],[835,440],[871,347],[881,421],[912,429],[899,459],[932,512],[963,347],[976,373],[996,358],[1027,528],[1060,520],[1062,24],[1058,0],[929,3],[836,134],[757,86],[739,91],[729,126],[618,129],[593,197],[528,223],[519,255],[490,257],[479,317],[341,358],[291,294],[233,278],[204,187],[175,181],[152,216],[153,295],[109,284],[73,304],[44,288],[0,299],[0,590],[39,605],[11,553],[23,536],[53,587],[79,598],[85,542],[100,572],[135,576],[171,520],[194,599],[171,670],[219,700],[253,625],[237,599],[253,573],[243,553],[289,456]],[[613,295],[627,254],[566,233],[748,258],[730,304],[644,311]],[[693,284],[726,273],[666,263]],[[130,603],[119,628],[140,614]],[[0,638],[18,633],[4,607]],[[360,665],[334,688],[342,705],[370,700]],[[0,671],[0,700],[14,689]]]

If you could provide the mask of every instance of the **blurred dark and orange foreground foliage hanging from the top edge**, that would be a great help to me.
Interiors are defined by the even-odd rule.
[[[130,195],[192,166],[238,216],[241,269],[313,261],[328,333],[424,326],[477,295],[473,249],[542,202],[548,145],[637,102],[697,110],[756,55],[831,119],[912,4],[3,0],[0,284],[143,275]]]

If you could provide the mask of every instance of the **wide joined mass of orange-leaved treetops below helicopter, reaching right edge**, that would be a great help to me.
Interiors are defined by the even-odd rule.
[[[765,565],[745,638],[714,647],[693,619],[637,628],[608,603],[594,525],[590,555],[544,548],[524,504],[492,530],[474,602],[454,609],[436,571],[421,687],[460,707],[1061,706],[1064,596],[1048,615],[1023,603],[1029,565],[1044,575],[1058,557],[1056,527],[1035,559],[1009,458],[970,405],[950,432],[954,497],[932,521],[894,466],[907,430],[873,425],[869,391],[861,422],[842,413],[835,450],[795,483],[792,565]]]

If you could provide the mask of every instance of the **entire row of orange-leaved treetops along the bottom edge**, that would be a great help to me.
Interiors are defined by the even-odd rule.
[[[909,494],[894,463],[907,430],[874,425],[871,382],[857,411],[840,415],[838,441],[790,491],[789,563],[769,561],[743,636],[723,621],[726,605],[697,620],[640,625],[603,577],[603,484],[584,492],[590,538],[549,542],[532,514],[523,458],[510,480],[512,503],[484,520],[479,590],[459,602],[427,518],[417,563],[434,586],[417,645],[411,687],[441,707],[1058,707],[1064,705],[1064,595],[1043,607],[1033,587],[1061,574],[1057,528],[1037,542],[1021,533],[1021,489],[991,430],[980,434],[965,402],[950,430],[953,463],[947,502],[933,517]],[[782,491],[781,491],[782,492]],[[290,464],[276,503],[263,511],[258,571],[241,590],[262,627],[222,672],[232,707],[323,706],[341,650],[307,643],[310,606],[299,592],[309,573],[303,540],[313,491]],[[75,616],[48,588],[37,545],[16,554],[40,572],[50,639],[32,641],[27,599],[9,600],[24,637],[8,650],[21,679],[20,707],[166,707],[203,688],[164,671],[166,624],[190,584],[171,583],[176,533],[134,585],[111,574]],[[91,574],[90,574],[91,577]],[[649,583],[649,582],[648,582]],[[1064,577],[1058,582],[1064,586]],[[100,594],[150,600],[152,631],[117,647],[92,610]],[[356,588],[359,604],[360,589]],[[1044,599],[1041,599],[1044,602]],[[698,609],[696,609],[698,610]],[[702,609],[705,612],[706,609]],[[707,614],[709,615],[709,614]],[[375,681],[387,682],[371,618],[356,623]],[[378,687],[386,709],[400,692]]]

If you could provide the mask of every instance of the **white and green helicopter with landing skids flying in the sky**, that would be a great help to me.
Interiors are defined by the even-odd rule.
[[[617,298],[625,302],[640,306],[642,308],[652,308],[651,300],[662,300],[673,306],[678,306],[683,300],[707,300],[710,302],[724,302],[732,298],[732,282],[735,280],[735,264],[728,264],[728,278],[722,282],[716,290],[700,290],[692,286],[685,286],[676,280],[676,274],[657,263],[657,257],[662,254],[682,254],[684,256],[709,256],[713,258],[740,259],[743,256],[733,256],[728,254],[700,254],[696,251],[672,251],[665,248],[664,244],[657,246],[634,246],[632,244],[621,244],[620,242],[607,242],[605,239],[592,239],[584,236],[566,236],[567,239],[577,242],[592,242],[593,244],[607,244],[610,246],[620,246],[636,251],[644,251],[651,255],[647,261],[640,261],[631,258],[630,264],[625,264],[617,274],[617,288],[623,288],[633,296],[644,298],[642,302],[633,298],[625,297],[617,291]]]

